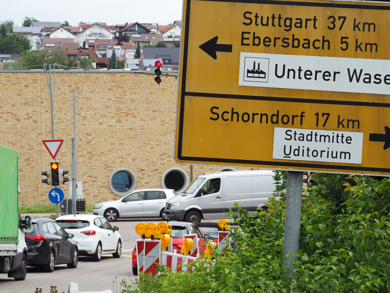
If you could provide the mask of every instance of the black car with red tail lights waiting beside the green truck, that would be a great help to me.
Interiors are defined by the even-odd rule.
[[[42,266],[45,272],[53,272],[55,265],[67,264],[76,268],[78,247],[58,223],[50,218],[32,220],[31,229],[23,229],[28,249],[28,266]]]

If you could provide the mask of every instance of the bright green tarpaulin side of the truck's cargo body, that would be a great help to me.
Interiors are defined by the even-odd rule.
[[[18,243],[18,152],[0,146],[0,243]]]

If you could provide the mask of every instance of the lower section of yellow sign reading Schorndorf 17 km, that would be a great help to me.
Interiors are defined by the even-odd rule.
[[[186,96],[182,125],[178,122],[176,161],[390,173],[390,149],[384,149],[390,107],[279,100]]]

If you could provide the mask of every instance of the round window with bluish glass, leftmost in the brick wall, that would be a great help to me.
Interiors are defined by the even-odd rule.
[[[109,185],[115,194],[121,196],[136,188],[137,178],[133,171],[126,168],[119,168],[111,174]]]

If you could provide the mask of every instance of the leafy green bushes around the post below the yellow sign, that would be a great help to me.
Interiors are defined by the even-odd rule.
[[[238,208],[229,217],[234,245],[215,252],[215,265],[200,258],[192,272],[159,266],[156,277],[140,274],[124,292],[390,292],[390,180],[321,174],[325,185],[308,187],[302,199],[301,232],[294,276],[282,268],[286,195],[268,212]],[[277,172],[278,179],[285,173]],[[332,188],[329,182],[332,181]],[[285,182],[284,182],[285,183]],[[284,183],[278,188],[283,190]],[[342,203],[331,201],[337,188]],[[331,193],[333,192],[333,193]],[[330,194],[331,193],[331,194]],[[335,213],[334,206],[340,205]],[[125,281],[124,281],[125,282]]]

